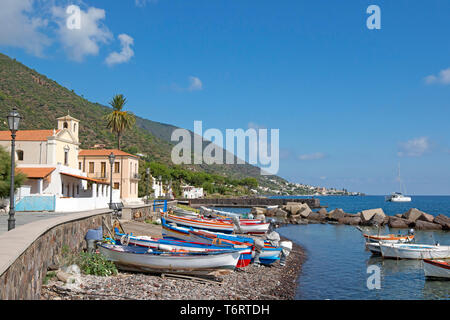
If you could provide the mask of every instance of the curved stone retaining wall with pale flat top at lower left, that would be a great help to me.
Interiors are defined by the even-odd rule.
[[[111,225],[109,209],[45,219],[0,236],[0,299],[40,299],[50,265],[59,264],[63,247],[77,252],[86,246],[88,229]]]

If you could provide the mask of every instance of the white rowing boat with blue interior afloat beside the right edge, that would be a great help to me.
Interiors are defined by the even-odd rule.
[[[380,242],[383,258],[445,259],[450,258],[450,246]]]

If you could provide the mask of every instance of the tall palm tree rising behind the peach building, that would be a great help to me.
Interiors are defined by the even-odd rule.
[[[131,129],[135,124],[136,118],[131,112],[123,111],[123,106],[127,103],[127,99],[123,94],[116,94],[109,104],[113,107],[113,111],[105,116],[108,121],[107,127],[111,132],[117,135],[117,148],[120,150],[120,139],[126,129]]]

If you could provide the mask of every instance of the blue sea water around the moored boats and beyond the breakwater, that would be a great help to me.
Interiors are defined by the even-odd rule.
[[[291,197],[296,198],[296,197]],[[300,196],[297,198],[306,198]],[[434,216],[450,216],[450,196],[412,196],[407,203],[384,196],[317,196],[327,210],[347,213],[382,208],[387,215],[417,208]],[[223,208],[246,213],[248,208]],[[450,299],[450,280],[429,280],[423,262],[388,260],[366,251],[361,232],[347,225],[287,225],[277,231],[302,246],[306,261],[298,278],[297,300],[440,300]],[[398,233],[388,227],[381,233]],[[406,233],[407,230],[401,230]],[[377,232],[373,232],[377,233]],[[416,243],[450,245],[450,232],[415,231]]]

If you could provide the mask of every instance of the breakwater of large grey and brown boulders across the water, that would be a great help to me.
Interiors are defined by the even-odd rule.
[[[356,214],[346,213],[342,209],[329,212],[325,208],[312,211],[305,203],[287,203],[277,208],[253,208],[252,214],[257,219],[274,218],[280,223],[308,224],[330,223],[353,226],[389,226],[390,228],[417,230],[450,230],[450,218],[440,214],[431,214],[412,208],[403,214],[388,216],[383,209],[363,210]]]

